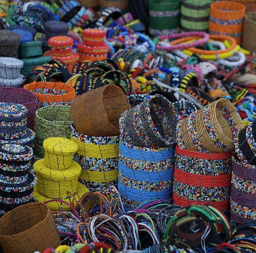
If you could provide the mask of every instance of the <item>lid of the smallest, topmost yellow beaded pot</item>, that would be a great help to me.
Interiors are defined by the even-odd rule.
[[[77,144],[69,139],[61,137],[52,137],[44,140],[43,148],[46,152],[54,154],[73,154],[77,151]]]

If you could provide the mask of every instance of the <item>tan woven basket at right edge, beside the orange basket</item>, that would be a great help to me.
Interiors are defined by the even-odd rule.
[[[246,14],[244,17],[242,47],[251,51],[251,53],[256,52],[255,36],[256,10],[255,13]]]

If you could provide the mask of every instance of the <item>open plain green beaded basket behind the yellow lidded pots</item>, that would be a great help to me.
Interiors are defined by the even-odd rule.
[[[44,157],[43,142],[50,137],[70,138],[70,106],[46,106],[35,113],[34,155]]]

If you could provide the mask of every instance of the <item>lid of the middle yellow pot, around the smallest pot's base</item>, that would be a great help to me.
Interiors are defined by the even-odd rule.
[[[44,159],[40,159],[34,163],[36,175],[52,181],[67,181],[79,177],[81,174],[81,166],[72,161],[68,169],[57,170],[45,166]]]

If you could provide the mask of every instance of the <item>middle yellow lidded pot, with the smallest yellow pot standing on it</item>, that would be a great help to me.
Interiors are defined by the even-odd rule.
[[[56,170],[45,166],[44,159],[34,163],[37,176],[37,191],[49,198],[61,199],[67,195],[67,191],[74,193],[77,189],[78,177],[81,174],[81,166],[71,161],[68,169]]]

